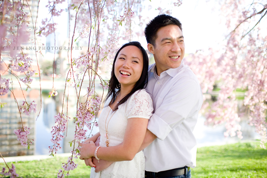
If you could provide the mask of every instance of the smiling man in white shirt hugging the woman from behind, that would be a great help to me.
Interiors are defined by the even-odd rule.
[[[197,77],[183,62],[182,25],[176,18],[159,15],[147,24],[145,37],[155,59],[146,87],[154,114],[140,148],[145,148],[145,175],[190,178],[190,167],[196,166],[193,130],[203,97]]]

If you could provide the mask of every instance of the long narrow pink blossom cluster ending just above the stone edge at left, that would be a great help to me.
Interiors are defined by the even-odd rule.
[[[58,113],[58,115],[54,116],[56,125],[52,127],[51,135],[52,135],[52,143],[54,145],[49,146],[49,152],[51,155],[56,154],[58,150],[61,149],[59,141],[62,140],[65,135],[62,135],[67,130],[67,123],[69,117],[67,117],[63,113]]]

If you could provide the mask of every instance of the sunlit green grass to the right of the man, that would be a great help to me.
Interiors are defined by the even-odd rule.
[[[192,177],[267,178],[267,149],[259,142],[199,148]]]

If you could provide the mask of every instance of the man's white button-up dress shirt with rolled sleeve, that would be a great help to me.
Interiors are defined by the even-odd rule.
[[[147,92],[154,114],[148,129],[158,138],[145,148],[145,170],[159,172],[196,166],[197,143],[193,135],[203,103],[198,79],[189,66],[168,69],[158,76],[149,66]]]

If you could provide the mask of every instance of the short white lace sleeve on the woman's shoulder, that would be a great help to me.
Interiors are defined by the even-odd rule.
[[[136,91],[128,101],[126,116],[127,118],[149,119],[153,112],[152,99],[145,89]]]

